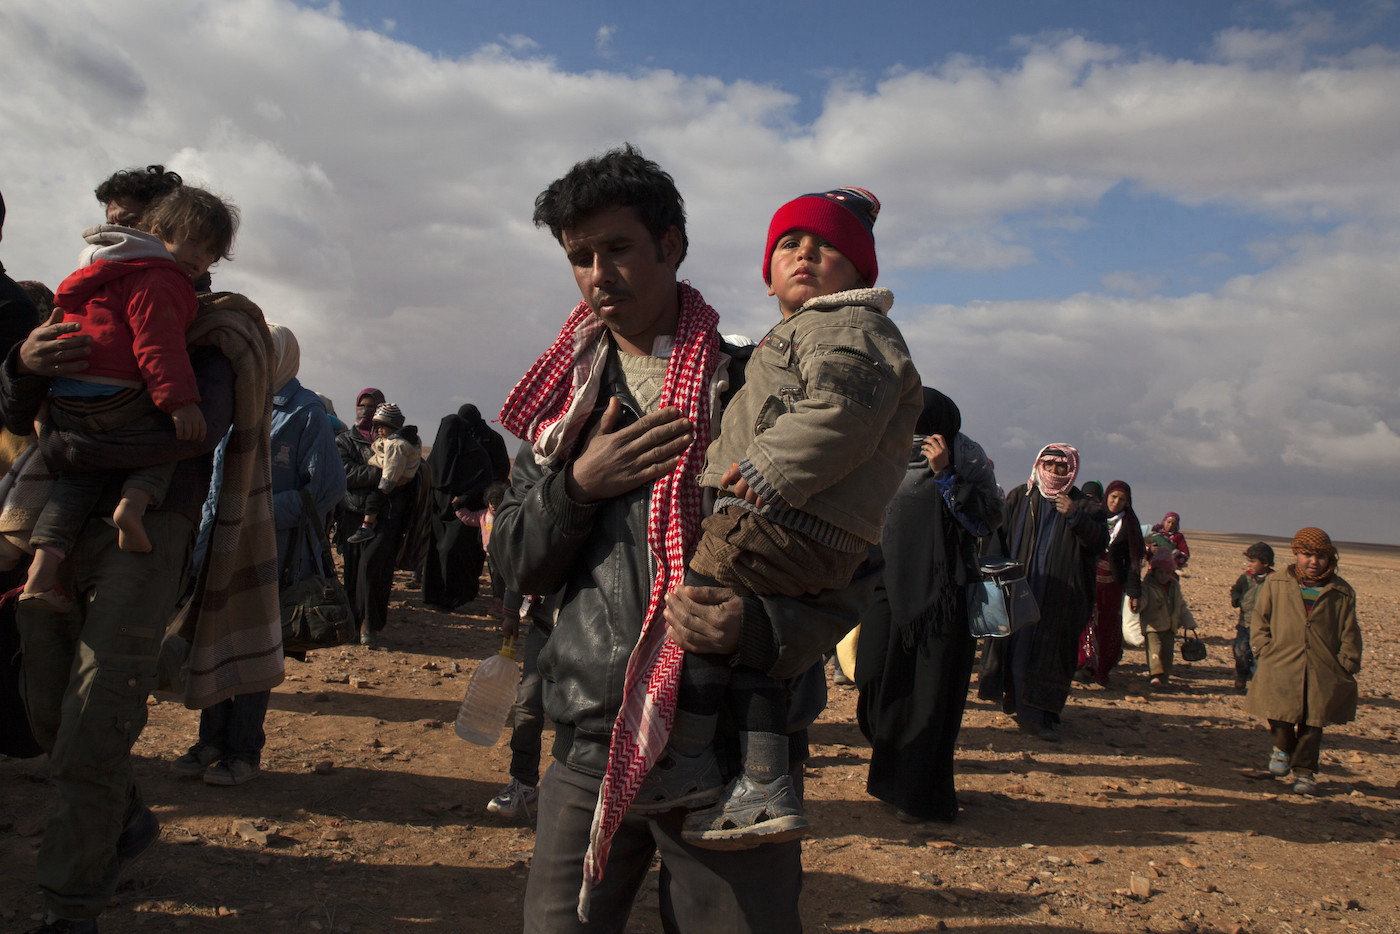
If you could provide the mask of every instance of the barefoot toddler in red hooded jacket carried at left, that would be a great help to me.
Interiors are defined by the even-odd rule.
[[[81,374],[53,379],[49,417],[59,428],[104,434],[162,412],[178,440],[199,441],[204,416],[185,349],[199,309],[193,283],[228,256],[238,214],[214,195],[182,186],[151,206],[141,228],[99,224],[83,232],[90,246],[59,286],[55,307],[64,321],[83,323],[92,353]],[[101,463],[91,468],[55,480],[29,535],[34,563],[20,599],[55,611],[71,606],[59,587],[59,564],[112,482]],[[151,550],[146,510],[164,499],[174,471],[171,462],[122,478],[112,513],[122,550]]]

